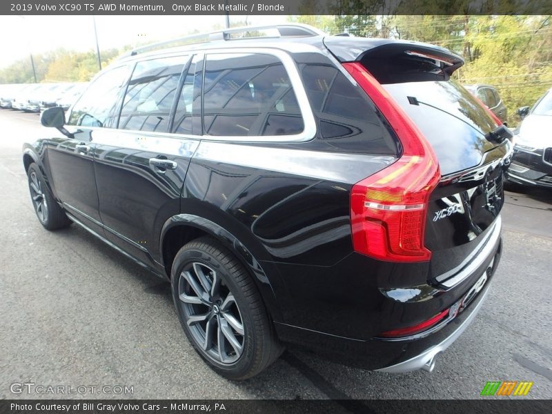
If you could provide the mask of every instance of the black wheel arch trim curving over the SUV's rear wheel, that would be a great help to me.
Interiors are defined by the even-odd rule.
[[[159,257],[161,258],[161,265],[164,267],[166,275],[170,278],[172,261],[177,251],[184,246],[184,244],[204,235],[209,235],[217,239],[217,241],[221,242],[221,244],[237,257],[239,262],[248,270],[248,273],[257,285],[270,317],[274,322],[283,322],[282,311],[277,305],[273,289],[273,282],[275,281],[270,280],[265,271],[267,266],[271,267],[270,264],[264,263],[263,266],[261,266],[259,260],[250,252],[250,249],[238,239],[238,237],[230,233],[226,228],[215,223],[215,221],[188,213],[174,215],[166,220],[164,226],[161,228],[161,237],[159,240]],[[171,247],[172,243],[175,243],[175,246]],[[270,270],[272,270],[270,272],[271,275],[277,271],[275,269]]]

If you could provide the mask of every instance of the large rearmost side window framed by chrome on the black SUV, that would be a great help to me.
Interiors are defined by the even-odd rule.
[[[286,69],[271,55],[208,55],[203,112],[208,135],[295,135],[304,128]]]

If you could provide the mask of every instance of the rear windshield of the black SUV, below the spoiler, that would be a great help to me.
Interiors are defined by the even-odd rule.
[[[411,81],[384,88],[420,128],[433,147],[444,174],[480,163],[493,148],[485,134],[495,121],[464,87],[448,81]]]

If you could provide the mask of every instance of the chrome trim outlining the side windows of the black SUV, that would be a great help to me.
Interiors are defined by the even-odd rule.
[[[308,101],[306,95],[306,90],[303,86],[301,77],[299,76],[299,69],[295,64],[290,55],[284,50],[277,50],[271,48],[232,48],[232,49],[208,49],[208,50],[197,50],[195,55],[229,55],[229,54],[243,54],[243,53],[257,53],[261,55],[273,55],[279,59],[284,65],[286,72],[288,73],[291,86],[293,87],[293,92],[295,92],[295,97],[297,98],[297,103],[299,104],[299,110],[301,112],[301,117],[304,123],[304,129],[301,133],[295,135],[237,135],[237,136],[215,136],[215,135],[188,135],[188,134],[176,134],[172,132],[150,132],[150,131],[141,131],[141,130],[124,130],[119,128],[102,128],[102,127],[90,127],[90,126],[77,126],[70,125],[72,128],[76,129],[86,129],[86,130],[117,130],[121,132],[133,133],[133,134],[143,134],[143,135],[159,135],[163,137],[171,137],[175,139],[201,139],[202,141],[223,141],[223,142],[248,142],[248,143],[264,143],[264,142],[305,142],[311,141],[316,136],[317,127],[315,117],[313,115],[313,110],[311,108],[311,103]],[[163,59],[167,56],[159,57]],[[152,58],[155,59],[155,58]],[[138,59],[136,59],[138,60]],[[142,61],[143,59],[139,59]],[[149,60],[149,59],[148,59]],[[337,66],[339,68],[339,66]],[[87,88],[88,89],[88,88]],[[80,98],[79,98],[80,99]],[[72,109],[72,108],[71,108]]]

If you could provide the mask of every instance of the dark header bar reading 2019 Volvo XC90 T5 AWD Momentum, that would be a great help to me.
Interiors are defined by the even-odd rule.
[[[0,14],[552,14],[549,0],[2,0]]]

